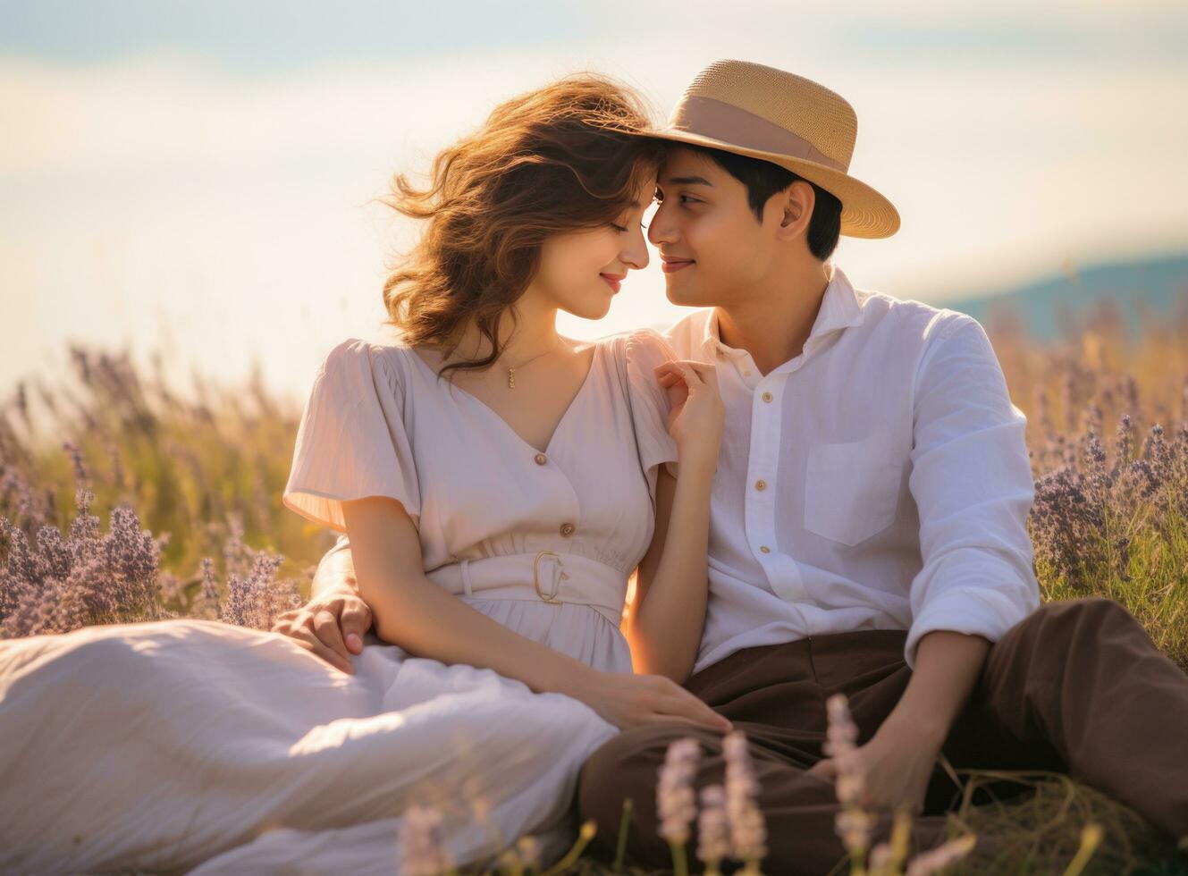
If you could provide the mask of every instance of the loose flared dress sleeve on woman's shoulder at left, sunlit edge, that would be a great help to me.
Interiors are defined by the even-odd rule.
[[[404,428],[404,386],[381,348],[356,338],[327,354],[302,414],[283,503],[346,532],[342,503],[387,496],[421,525],[421,489]]]

